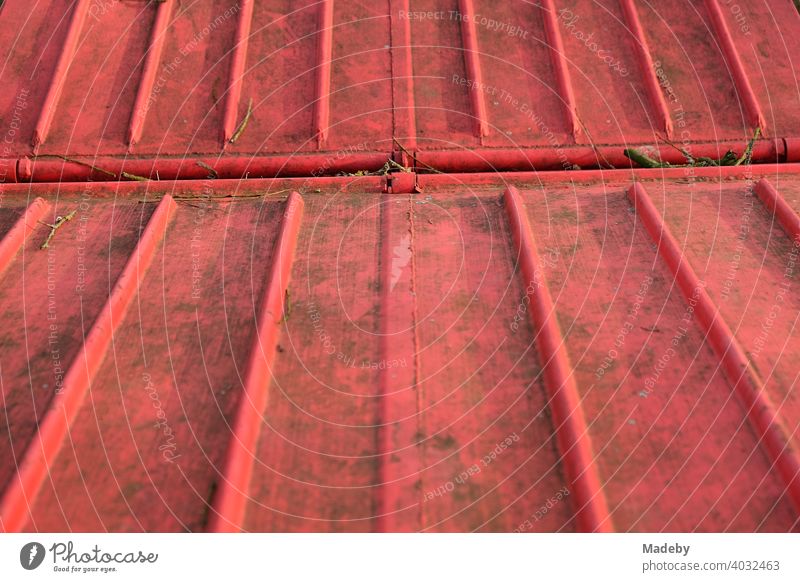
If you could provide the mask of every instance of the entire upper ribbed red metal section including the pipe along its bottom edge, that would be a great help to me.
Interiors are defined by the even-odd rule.
[[[187,155],[227,177],[375,170],[393,139],[443,171],[619,166],[626,144],[724,153],[756,127],[757,159],[800,159],[788,0],[10,0],[2,18],[9,181],[92,175],[18,165],[33,153],[115,177],[125,159],[202,178]]]

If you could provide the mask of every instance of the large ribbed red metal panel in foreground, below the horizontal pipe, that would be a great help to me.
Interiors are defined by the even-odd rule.
[[[798,171],[4,185],[3,528],[794,530]]]

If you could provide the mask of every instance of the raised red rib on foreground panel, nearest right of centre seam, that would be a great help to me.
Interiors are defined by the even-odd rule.
[[[544,367],[556,441],[568,485],[575,496],[575,520],[580,531],[613,531],[608,504],[594,464],[591,439],[580,405],[580,394],[564,347],[555,306],[540,268],[536,242],[517,189],[504,193],[514,248],[530,298],[536,346]]]

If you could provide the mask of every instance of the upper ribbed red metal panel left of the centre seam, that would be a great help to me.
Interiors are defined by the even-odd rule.
[[[389,152],[385,10],[47,0],[31,12],[6,2],[0,109],[22,95],[26,110],[4,157]]]

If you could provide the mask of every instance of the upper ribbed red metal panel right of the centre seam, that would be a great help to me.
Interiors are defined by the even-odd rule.
[[[797,99],[792,31],[800,20],[790,2],[748,3],[741,12],[712,0],[413,4],[442,16],[411,27],[422,77],[416,105],[429,111],[418,117],[426,148],[548,145],[543,128],[584,144],[800,129],[796,107],[770,97]]]

